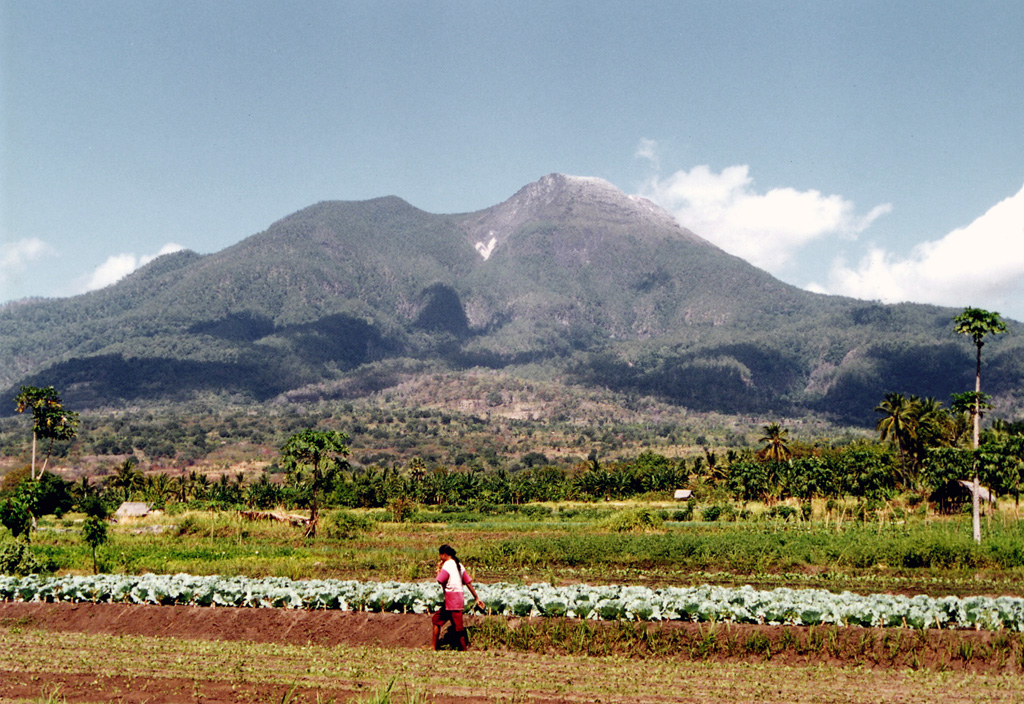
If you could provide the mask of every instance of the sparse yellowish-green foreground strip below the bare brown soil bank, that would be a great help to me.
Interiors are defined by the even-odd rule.
[[[1019,702],[1019,674],[315,647],[0,627],[2,702]],[[22,685],[15,685],[15,683]]]

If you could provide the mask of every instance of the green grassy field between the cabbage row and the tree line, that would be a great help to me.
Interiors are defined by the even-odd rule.
[[[1024,596],[1024,523],[1004,511],[970,538],[968,517],[733,522],[674,521],[644,504],[532,505],[502,515],[333,512],[315,538],[237,513],[157,515],[112,527],[101,571],[341,577],[433,576],[455,545],[478,579],[551,583],[751,583],[831,590]],[[669,520],[665,520],[667,517]],[[81,517],[41,522],[33,553],[51,570],[88,573]]]

